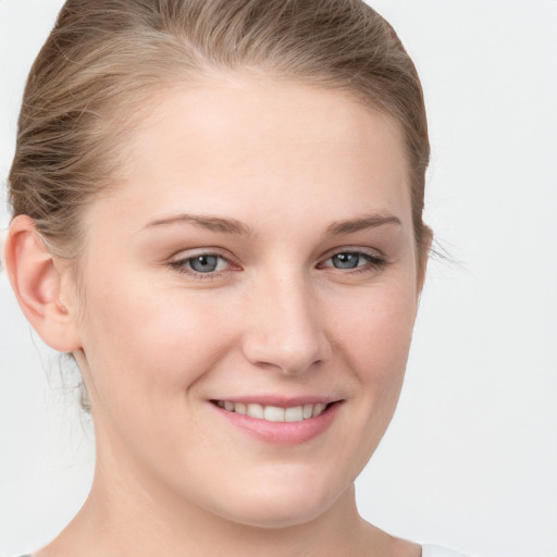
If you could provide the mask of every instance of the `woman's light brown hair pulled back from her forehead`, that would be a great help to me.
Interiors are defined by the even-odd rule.
[[[67,0],[25,89],[9,176],[13,214],[32,216],[50,249],[76,260],[81,210],[114,182],[119,146],[147,97],[235,70],[345,89],[394,117],[423,264],[422,89],[393,28],[360,0]]]

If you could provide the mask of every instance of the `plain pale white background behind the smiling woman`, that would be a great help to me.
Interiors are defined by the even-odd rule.
[[[0,0],[0,176],[60,0]],[[422,76],[432,262],[363,516],[481,557],[557,557],[557,1],[377,0]],[[8,211],[0,207],[0,227]],[[66,384],[70,380],[66,380]],[[94,451],[55,355],[0,277],[0,555],[77,510]]]

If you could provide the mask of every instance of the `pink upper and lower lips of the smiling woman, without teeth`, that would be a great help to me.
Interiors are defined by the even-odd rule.
[[[299,397],[299,398],[280,398],[271,397],[242,397],[242,398],[225,398],[231,403],[244,404],[261,404],[263,406],[277,406],[288,408],[293,406],[302,406],[304,404],[327,404],[327,408],[323,413],[315,418],[309,418],[299,422],[271,422],[251,418],[246,414],[231,412],[224,408],[220,408],[213,401],[210,401],[210,407],[227,421],[228,424],[247,433],[248,435],[258,438],[264,443],[275,445],[300,445],[307,443],[322,433],[335,420],[343,400],[323,398],[323,397]]]

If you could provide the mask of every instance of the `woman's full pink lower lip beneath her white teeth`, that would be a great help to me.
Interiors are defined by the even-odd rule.
[[[342,403],[333,403],[323,413],[299,422],[270,422],[231,412],[211,404],[228,423],[261,441],[276,445],[300,445],[319,436],[333,423],[341,405]]]

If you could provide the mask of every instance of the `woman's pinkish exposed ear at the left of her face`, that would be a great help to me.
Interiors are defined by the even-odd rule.
[[[61,352],[81,348],[70,269],[48,251],[33,219],[24,214],[13,219],[4,256],[17,301],[42,341]]]

